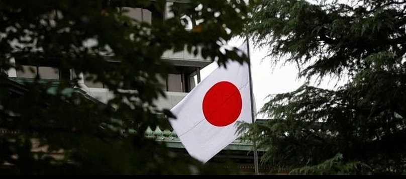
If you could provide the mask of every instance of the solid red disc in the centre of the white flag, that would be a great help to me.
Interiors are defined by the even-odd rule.
[[[238,119],[242,98],[237,86],[228,81],[213,85],[203,99],[203,114],[214,126],[227,126]]]

